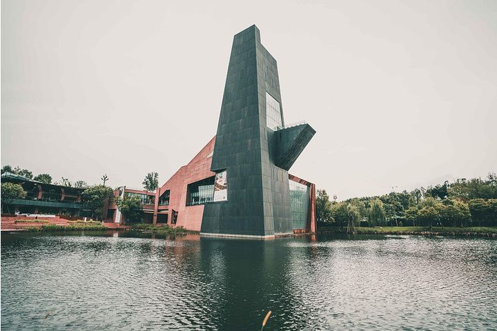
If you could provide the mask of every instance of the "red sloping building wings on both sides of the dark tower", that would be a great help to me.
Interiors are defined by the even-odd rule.
[[[135,194],[144,203],[145,223],[182,226],[199,231],[204,205],[212,201],[215,172],[211,171],[215,137],[195,157],[182,166],[156,192],[121,187],[115,196]],[[315,185],[289,174],[294,233],[315,232]],[[292,190],[298,188],[297,190]],[[305,187],[305,188],[304,188]],[[296,198],[296,199],[295,199]],[[300,205],[296,201],[302,201]],[[305,202],[303,202],[306,200]],[[300,208],[300,207],[304,208]],[[306,208],[305,208],[306,207]],[[109,205],[108,219],[115,223],[124,221],[115,203]]]

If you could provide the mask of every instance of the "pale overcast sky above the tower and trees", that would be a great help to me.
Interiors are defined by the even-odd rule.
[[[216,132],[233,35],[256,24],[290,172],[338,199],[497,171],[497,1],[1,1],[1,165],[164,183]]]

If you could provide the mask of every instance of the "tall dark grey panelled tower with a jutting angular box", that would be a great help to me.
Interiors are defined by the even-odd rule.
[[[288,170],[314,133],[308,124],[284,126],[277,63],[259,29],[236,34],[211,165],[215,202],[204,206],[202,234],[293,233]]]

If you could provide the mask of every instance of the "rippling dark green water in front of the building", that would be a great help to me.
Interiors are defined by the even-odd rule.
[[[4,330],[496,330],[497,241],[1,235]]]

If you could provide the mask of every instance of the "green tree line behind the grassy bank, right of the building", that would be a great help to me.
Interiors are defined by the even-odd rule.
[[[318,190],[316,217],[340,228],[351,220],[356,226],[497,226],[497,174],[341,202]]]

